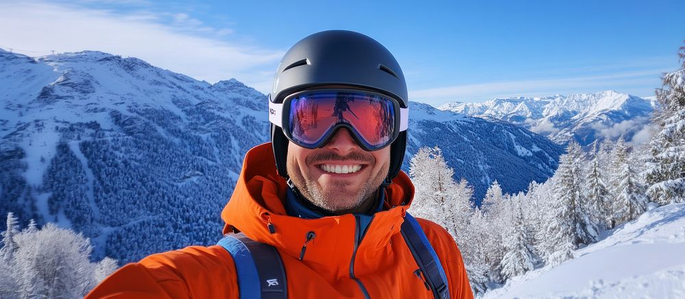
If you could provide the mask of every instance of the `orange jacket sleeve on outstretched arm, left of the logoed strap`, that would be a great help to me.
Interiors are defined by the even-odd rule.
[[[237,283],[225,249],[190,246],[129,263],[86,298],[238,298]]]

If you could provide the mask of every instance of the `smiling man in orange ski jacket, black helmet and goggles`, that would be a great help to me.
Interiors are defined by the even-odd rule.
[[[277,68],[271,144],[247,153],[222,213],[224,233],[243,241],[151,255],[88,297],[473,298],[449,233],[406,213],[407,118],[406,82],[381,44],[339,30],[304,38]],[[227,239],[275,248],[265,271],[282,278],[249,289],[264,278],[244,275],[261,249],[241,255]]]

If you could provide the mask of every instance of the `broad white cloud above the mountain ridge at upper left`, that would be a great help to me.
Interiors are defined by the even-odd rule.
[[[162,23],[167,19],[171,23]],[[210,83],[234,77],[269,92],[273,70],[284,51],[220,38],[232,33],[229,28],[208,27],[187,14],[117,14],[66,4],[0,2],[0,47],[25,50],[15,51],[31,56],[51,50],[104,51],[138,57]]]

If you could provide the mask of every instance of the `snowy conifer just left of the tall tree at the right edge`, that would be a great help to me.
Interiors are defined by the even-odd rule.
[[[623,165],[619,179],[619,194],[614,200],[617,224],[634,220],[645,213],[648,201],[645,187],[638,180],[638,174],[633,171],[630,162]]]

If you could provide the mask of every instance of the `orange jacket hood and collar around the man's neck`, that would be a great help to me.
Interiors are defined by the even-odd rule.
[[[225,221],[223,233],[241,231],[250,239],[275,246],[292,257],[299,257],[306,244],[305,261],[327,264],[336,255],[349,258],[356,242],[356,216],[288,216],[284,206],[287,189],[286,181],[276,172],[271,143],[252,148],[245,155],[236,188],[221,213]],[[393,184],[386,187],[384,210],[373,215],[359,250],[381,248],[399,233],[413,196],[414,185],[400,172]],[[310,232],[315,237],[307,242]]]

